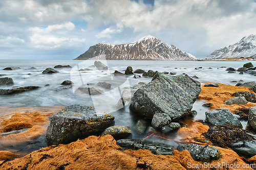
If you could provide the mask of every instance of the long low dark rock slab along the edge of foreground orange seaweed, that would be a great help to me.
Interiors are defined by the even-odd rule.
[[[150,150],[153,154],[173,155],[173,146],[159,142],[145,141],[139,139],[120,139],[116,141],[122,149]]]

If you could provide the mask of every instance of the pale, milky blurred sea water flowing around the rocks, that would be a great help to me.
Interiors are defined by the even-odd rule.
[[[101,61],[101,60],[99,60]],[[50,107],[86,105],[92,106],[96,110],[109,113],[115,117],[115,125],[130,126],[133,138],[144,138],[146,134],[136,133],[136,121],[141,117],[131,113],[129,106],[117,109],[121,92],[129,89],[139,82],[148,83],[151,77],[134,78],[134,75],[125,76],[122,83],[116,84],[110,90],[105,90],[97,86],[97,82],[113,81],[119,79],[114,76],[115,70],[124,73],[127,66],[132,66],[133,70],[143,69],[153,71],[176,72],[177,75],[187,74],[197,76],[200,83],[217,82],[228,85],[236,85],[239,81],[255,81],[256,77],[249,74],[239,74],[238,71],[228,73],[228,67],[239,68],[247,62],[252,62],[256,66],[256,61],[132,61],[132,60],[104,60],[103,64],[108,66],[108,70],[98,70],[93,66],[93,60],[0,60],[0,78],[12,78],[14,85],[2,85],[0,89],[40,86],[40,88],[16,94],[0,95],[0,108],[9,107]],[[70,65],[69,68],[54,68],[58,70],[55,74],[42,74],[46,68],[53,68],[56,65]],[[3,70],[6,67],[19,67],[16,70]],[[33,68],[32,68],[33,67]],[[81,68],[90,70],[79,71]],[[197,68],[197,69],[195,69]],[[72,85],[61,85],[65,80],[71,80]],[[104,91],[103,94],[77,95],[75,91],[82,85],[91,85]],[[204,119],[207,108],[202,107],[205,101],[197,100],[193,110],[198,112],[195,119]],[[0,117],[7,114],[6,110],[0,110]]]

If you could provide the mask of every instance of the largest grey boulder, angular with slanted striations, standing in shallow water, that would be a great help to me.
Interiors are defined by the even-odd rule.
[[[175,120],[192,109],[200,91],[200,83],[192,78],[156,71],[152,81],[134,93],[130,109],[147,118],[166,113]]]

